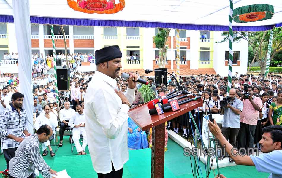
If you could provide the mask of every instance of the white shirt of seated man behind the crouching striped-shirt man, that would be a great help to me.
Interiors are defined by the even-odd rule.
[[[50,112],[49,115],[50,115],[50,119],[45,117],[46,116],[45,112],[40,113],[39,116],[36,118],[36,121],[34,123],[34,128],[38,130],[40,126],[47,124],[52,128],[53,133],[55,133],[55,128],[58,126],[57,116],[52,112]]]

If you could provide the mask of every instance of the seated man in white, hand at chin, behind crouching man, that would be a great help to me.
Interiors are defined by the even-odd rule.
[[[58,126],[57,116],[55,114],[53,114],[52,112],[50,112],[50,107],[47,104],[44,106],[44,111],[45,111],[44,113],[41,113],[37,117],[37,119],[34,123],[34,128],[36,130],[38,130],[40,126],[47,124],[48,126],[50,126],[52,128],[53,133],[56,133],[56,127]],[[55,139],[55,138],[53,138],[53,139]],[[48,155],[47,147],[50,150],[50,156],[51,157],[55,156],[55,153],[53,152],[52,147],[50,146],[49,140],[42,143],[42,150],[43,150],[42,156]]]

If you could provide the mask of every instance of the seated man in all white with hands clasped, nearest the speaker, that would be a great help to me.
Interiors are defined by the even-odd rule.
[[[77,104],[75,109],[76,109],[75,114],[69,120],[69,126],[73,128],[72,139],[75,144],[78,155],[86,155],[85,149],[87,145],[87,137],[86,137],[86,129],[85,129],[85,115],[81,104]],[[80,135],[83,136],[82,146],[80,145],[79,142]]]

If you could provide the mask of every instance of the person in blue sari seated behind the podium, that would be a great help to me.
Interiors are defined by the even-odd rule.
[[[142,131],[138,126],[130,119],[128,122],[128,148],[129,149],[143,149],[148,148],[147,135],[145,131]]]

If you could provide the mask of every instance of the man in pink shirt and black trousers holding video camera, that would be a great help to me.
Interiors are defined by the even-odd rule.
[[[262,108],[262,100],[259,97],[254,96],[254,88],[246,83],[244,85],[244,92],[241,100],[243,101],[243,111],[240,114],[240,130],[238,134],[239,149],[253,148],[254,135],[256,131],[257,119],[259,112]],[[251,153],[251,150],[250,150]],[[242,152],[242,154],[244,154]]]

